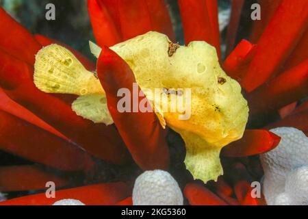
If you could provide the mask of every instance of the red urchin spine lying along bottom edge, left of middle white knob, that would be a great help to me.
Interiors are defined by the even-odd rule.
[[[56,201],[67,198],[77,199],[85,205],[114,205],[130,195],[131,189],[125,183],[105,183],[56,190],[55,198],[47,198],[45,193],[40,193],[3,201],[0,205],[53,205]]]

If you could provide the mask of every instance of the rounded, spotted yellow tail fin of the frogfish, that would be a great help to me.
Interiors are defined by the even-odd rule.
[[[36,54],[34,83],[43,92],[85,95],[104,93],[99,79],[68,49],[57,44]]]

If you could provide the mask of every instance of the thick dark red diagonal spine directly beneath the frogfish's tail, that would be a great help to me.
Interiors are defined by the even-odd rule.
[[[127,151],[114,127],[84,120],[64,101],[38,91],[31,81],[9,93],[92,155],[115,164],[127,162]]]

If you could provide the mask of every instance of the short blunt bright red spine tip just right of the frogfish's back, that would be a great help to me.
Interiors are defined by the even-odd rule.
[[[241,81],[244,73],[255,55],[257,45],[242,40],[228,55],[222,65],[226,73],[237,81]]]

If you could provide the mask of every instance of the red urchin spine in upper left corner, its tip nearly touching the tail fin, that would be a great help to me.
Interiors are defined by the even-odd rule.
[[[40,44],[1,7],[0,23],[0,49],[28,64],[34,64],[34,54],[41,49]]]

